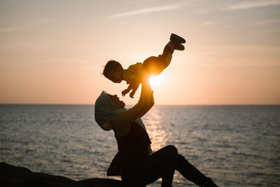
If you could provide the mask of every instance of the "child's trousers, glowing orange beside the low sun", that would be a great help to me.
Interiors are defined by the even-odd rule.
[[[151,76],[158,76],[165,68],[167,68],[172,60],[172,54],[174,50],[165,46],[162,55],[158,57],[148,57],[143,62],[143,67]]]

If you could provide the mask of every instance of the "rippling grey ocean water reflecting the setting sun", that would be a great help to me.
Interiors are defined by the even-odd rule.
[[[154,151],[175,145],[219,186],[280,186],[280,106],[154,106],[142,119]],[[92,105],[0,105],[0,162],[79,180],[107,177],[116,152]],[[173,186],[195,185],[175,172]]]

